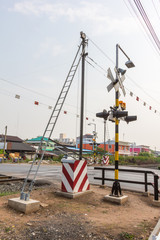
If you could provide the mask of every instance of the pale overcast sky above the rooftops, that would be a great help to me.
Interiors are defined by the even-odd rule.
[[[160,2],[141,2],[159,37]],[[105,71],[110,67],[115,74],[118,43],[136,66],[127,70],[126,96],[121,92],[120,100],[126,102],[129,115],[137,115],[138,119],[130,124],[120,122],[120,140],[160,150],[160,54],[127,0],[1,0],[0,29],[0,133],[4,133],[7,126],[9,135],[23,139],[43,134],[52,111],[48,106],[55,105],[83,31],[89,38],[88,56],[98,64],[93,63],[93,68],[86,63],[84,133],[92,133],[94,126],[88,123],[96,123],[98,141],[103,141],[103,121],[95,115],[103,109],[109,110],[115,103],[114,90],[107,92],[110,80]],[[119,52],[121,68],[126,68],[126,60]],[[60,133],[68,138],[79,136],[76,115],[79,114],[80,81],[81,66],[53,138]],[[15,98],[16,94],[20,99]],[[114,124],[108,122],[107,125],[107,138],[113,139]]]

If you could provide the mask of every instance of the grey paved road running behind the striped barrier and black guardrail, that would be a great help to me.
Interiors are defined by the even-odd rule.
[[[26,177],[28,170],[30,168],[29,164],[0,164],[0,174],[4,175],[11,175],[16,177]],[[148,168],[135,168],[135,167],[121,167],[125,169],[137,169],[137,170],[149,170],[154,171],[158,175],[160,175],[160,170],[153,170]],[[36,168],[33,168],[33,171]],[[37,179],[46,179],[50,181],[60,181],[61,180],[61,171],[62,167],[61,165],[41,165],[39,168],[39,172],[37,175]],[[34,173],[34,172],[33,172]],[[94,170],[93,166],[88,167],[88,177],[89,182],[91,184],[101,184],[101,181],[94,180],[94,177],[101,177],[101,171]],[[114,171],[108,171],[106,173],[107,178],[114,178]],[[119,171],[119,179],[125,179],[125,180],[133,180],[133,181],[144,181],[144,174],[141,173],[126,173],[126,172],[120,172]],[[154,182],[153,176],[148,175],[148,181]],[[112,186],[112,182],[106,181],[105,184],[107,186]],[[159,183],[160,184],[160,183]],[[136,191],[144,191],[144,185],[137,185],[137,184],[128,184],[128,183],[121,183],[121,188],[123,189],[130,189],[130,190],[136,190]],[[149,186],[149,192],[153,193],[153,187]]]

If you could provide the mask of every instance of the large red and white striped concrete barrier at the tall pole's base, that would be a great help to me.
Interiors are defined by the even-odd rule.
[[[62,159],[62,192],[80,193],[89,189],[87,162]]]

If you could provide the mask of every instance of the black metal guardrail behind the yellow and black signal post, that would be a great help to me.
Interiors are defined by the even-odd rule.
[[[106,167],[94,167],[95,170],[101,170],[102,171],[102,177],[94,177],[95,180],[102,180],[102,185],[105,184],[105,181],[115,181],[115,179],[112,178],[106,178],[105,172],[106,171],[114,171],[114,168],[106,168]],[[152,172],[152,171],[145,171],[145,170],[135,170],[135,169],[119,169],[120,172],[133,172],[133,173],[143,173],[144,174],[144,182],[142,181],[130,181],[130,180],[123,180],[119,179],[119,182],[124,183],[132,183],[132,184],[142,184],[144,185],[145,192],[148,192],[148,185],[153,186],[154,188],[154,200],[158,201],[159,196],[159,190],[158,190],[158,179],[159,176]],[[148,174],[152,174],[154,177],[154,183],[148,182]]]

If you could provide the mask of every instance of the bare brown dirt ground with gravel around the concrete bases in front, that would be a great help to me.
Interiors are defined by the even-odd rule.
[[[123,191],[128,202],[119,206],[103,201],[110,188],[91,185],[91,193],[76,199],[58,196],[59,189],[58,183],[35,189],[31,198],[41,207],[28,215],[7,205],[19,193],[0,197],[0,240],[148,239],[160,218],[153,196]]]

